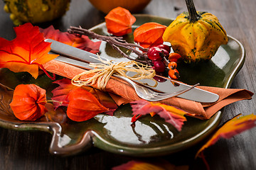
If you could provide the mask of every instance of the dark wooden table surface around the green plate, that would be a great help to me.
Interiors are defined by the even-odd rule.
[[[256,89],[256,17],[255,0],[194,0],[198,11],[208,11],[218,17],[228,35],[237,38],[245,47],[245,64],[235,77],[231,88]],[[0,1],[0,37],[15,38],[13,23],[5,13],[4,2]],[[185,1],[152,0],[141,13],[176,18],[187,11]],[[55,28],[66,31],[69,26],[91,28],[104,22],[104,13],[97,11],[87,0],[73,0],[70,10],[53,23]],[[221,123],[242,113],[255,112],[255,96],[250,101],[239,101],[225,107]],[[113,166],[136,159],[112,154],[97,148],[72,157],[59,157],[48,152],[51,135],[46,132],[21,132],[0,128],[0,169],[111,169]],[[206,149],[206,159],[210,169],[256,169],[256,128],[225,140],[220,139]],[[189,165],[190,169],[206,169],[202,159],[194,159],[198,146],[183,152],[162,157],[171,164]],[[155,159],[155,158],[148,158]]]

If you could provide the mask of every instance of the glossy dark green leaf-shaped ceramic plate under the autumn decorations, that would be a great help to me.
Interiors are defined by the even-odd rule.
[[[137,21],[133,28],[147,22],[157,22],[169,26],[172,20],[156,16],[136,15]],[[105,23],[95,26],[91,30],[108,35]],[[133,42],[132,34],[124,37]],[[245,61],[245,50],[235,38],[228,37],[228,44],[222,45],[210,62],[188,67],[179,64],[182,81],[188,84],[201,83],[206,86],[228,88]],[[112,47],[102,43],[101,55],[112,57],[115,60],[124,60]],[[131,54],[132,55],[132,54]],[[193,75],[193,76],[191,76]],[[191,78],[192,77],[192,78]],[[21,122],[11,113],[9,103],[12,91],[17,84],[38,84],[50,91],[55,88],[52,81],[41,74],[38,79],[31,78],[27,73],[13,73],[8,69],[0,70],[1,103],[0,126],[12,130],[40,130],[50,132],[53,140],[50,152],[53,154],[70,155],[82,152],[92,146],[108,152],[125,154],[136,157],[150,157],[171,154],[195,145],[205,138],[218,126],[220,115],[218,111],[209,120],[188,118],[181,132],[165,123],[161,118],[146,116],[131,125],[132,111],[129,105],[120,106],[110,115],[97,115],[92,120],[76,123],[69,120],[65,113],[47,113],[46,117],[36,122]],[[49,116],[50,115],[50,116]]]

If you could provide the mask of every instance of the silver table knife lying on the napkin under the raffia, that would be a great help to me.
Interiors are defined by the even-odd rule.
[[[58,42],[55,40],[51,39],[46,39],[46,42],[52,42],[50,47],[51,47],[51,52],[54,52],[58,55],[59,57],[55,58],[55,60],[58,60],[60,62],[65,62],[68,64],[73,64],[78,67],[86,67],[87,69],[93,69],[92,67],[89,67],[88,64],[86,63],[101,63],[100,60],[98,59],[98,56],[91,53],[87,52],[85,50],[80,50],[79,48],[72,47],[70,45],[66,45],[62,42]],[[102,60],[107,60],[106,57],[102,57]],[[134,72],[127,72],[127,76],[132,77],[134,76]],[[156,79],[162,79],[162,81],[158,82],[156,87],[152,87],[155,84],[155,81],[151,79],[141,79],[140,82],[137,81],[139,84],[149,84],[146,86],[149,86],[149,88],[154,89],[156,91],[161,91],[164,93],[173,93],[175,91],[180,91],[183,89],[188,89],[190,87],[188,84],[183,84],[180,81],[174,81],[172,79],[169,79],[167,77],[160,77],[156,76]],[[178,84],[178,86],[177,86]],[[186,93],[183,93],[181,95],[178,95],[180,98],[185,98],[191,101],[198,101],[198,102],[203,102],[203,103],[212,103],[215,101],[218,101],[218,94],[213,94],[210,91],[205,91],[202,89],[198,88],[193,88],[190,91],[187,91]]]

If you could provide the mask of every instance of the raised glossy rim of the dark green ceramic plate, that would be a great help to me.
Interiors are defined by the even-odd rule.
[[[161,16],[154,16],[154,15],[148,15],[148,14],[134,14],[135,17],[153,17],[153,18],[163,18],[166,20],[174,20],[173,18],[165,18]],[[90,30],[93,30],[97,27],[100,27],[104,25],[105,22],[98,24],[97,26],[94,26],[90,28]],[[245,48],[243,47],[242,43],[237,40],[236,38],[233,38],[232,36],[228,35],[228,38],[235,40],[235,42],[238,43],[241,49],[241,57],[236,64],[236,67],[233,69],[232,74],[230,74],[230,77],[228,78],[227,83],[223,88],[227,89],[231,86],[233,79],[235,78],[235,75],[238,74],[240,69],[242,68],[242,65],[245,62]],[[58,145],[58,140],[60,139],[60,133],[61,133],[61,125],[59,123],[55,122],[11,122],[11,121],[5,121],[0,118],[0,127],[11,129],[11,130],[23,130],[23,131],[30,131],[30,130],[39,130],[44,132],[50,132],[50,134],[53,135],[49,151],[51,154],[59,154],[59,155],[73,155],[77,154],[78,152],[82,152],[85,149],[90,148],[92,145],[94,147],[98,147],[100,149],[103,149],[107,152],[113,152],[116,154],[126,154],[129,156],[136,156],[136,157],[151,157],[151,156],[161,156],[164,154],[171,154],[174,152],[181,151],[183,149],[186,149],[188,147],[191,147],[192,145],[196,145],[196,143],[203,140],[207,135],[209,135],[215,128],[217,128],[218,124],[220,123],[220,118],[223,113],[223,109],[215,113],[214,120],[206,129],[204,129],[202,132],[199,132],[197,135],[183,141],[183,142],[177,142],[175,144],[172,144],[171,146],[174,146],[175,148],[173,150],[166,151],[166,149],[169,149],[170,145],[161,147],[161,152],[156,153],[156,148],[154,147],[120,147],[120,145],[115,145],[110,142],[107,142],[107,140],[104,140],[100,135],[97,134],[97,132],[93,130],[87,130],[84,132],[82,139],[78,144],[68,147],[61,147]],[[106,141],[106,142],[104,142]],[[105,147],[102,147],[103,145],[100,145],[100,142],[105,144]],[[180,145],[186,145],[185,147],[177,147]],[[111,147],[110,147],[111,146]],[[108,147],[108,149],[105,149]],[[159,151],[159,147],[157,148]],[[72,153],[71,153],[72,152]],[[152,155],[154,154],[154,155]]]

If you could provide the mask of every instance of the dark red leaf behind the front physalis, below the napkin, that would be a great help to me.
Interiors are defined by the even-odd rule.
[[[58,108],[59,106],[68,106],[68,93],[77,88],[77,86],[71,84],[70,79],[60,79],[54,81],[53,83],[60,85],[52,91],[53,97],[51,99],[53,100],[55,108]],[[90,86],[82,86],[82,88],[93,94],[93,96],[95,96],[95,98],[97,98],[97,100],[100,101],[100,103],[106,108],[117,109],[117,104],[114,103],[109,94],[97,89],[93,89]]]

